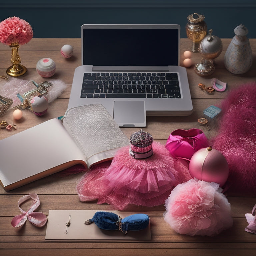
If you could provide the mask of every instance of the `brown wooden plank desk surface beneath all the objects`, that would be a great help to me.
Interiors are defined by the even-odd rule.
[[[215,60],[215,73],[207,78],[198,76],[194,72],[194,65],[187,69],[194,112],[187,117],[147,117],[146,131],[152,134],[154,140],[165,144],[169,134],[175,129],[199,128],[204,130],[208,138],[214,136],[214,130],[207,131],[200,126],[197,119],[202,111],[210,105],[217,104],[225,98],[227,91],[236,85],[255,81],[256,79],[256,39],[250,39],[254,62],[251,70],[243,75],[232,75],[223,63],[225,51],[231,39],[222,39],[223,52]],[[64,44],[74,46],[74,55],[64,59],[60,49]],[[181,62],[183,52],[189,50],[189,39],[181,39]],[[23,111],[22,121],[15,121],[17,130],[8,132],[0,130],[0,139],[28,129],[51,118],[64,115],[71,91],[74,69],[81,65],[80,39],[37,39],[33,38],[28,44],[19,48],[22,64],[28,72],[20,79],[43,82],[52,78],[61,79],[68,84],[65,92],[49,105],[45,116],[37,117],[29,110]],[[40,77],[36,72],[36,63],[43,57],[50,57],[56,63],[56,74],[50,79]],[[0,75],[5,75],[6,68],[11,63],[11,49],[0,44]],[[193,53],[192,61],[196,64],[201,59],[200,53]],[[198,87],[198,83],[210,86],[210,78],[218,78],[227,82],[225,92],[208,94]],[[1,121],[14,122],[12,111],[3,114]],[[129,137],[138,128],[122,128]],[[1,149],[3,150],[3,149]],[[29,154],[34,150],[32,145],[24,145]],[[1,153],[1,152],[0,152]],[[11,154],[11,152],[10,152]],[[157,207],[131,206],[129,211],[147,213],[151,219],[152,240],[150,242],[130,241],[46,241],[46,225],[37,228],[28,221],[22,228],[11,226],[12,218],[20,214],[18,200],[26,194],[38,194],[41,205],[37,211],[48,215],[49,210],[116,210],[111,205],[98,205],[96,202],[80,202],[75,191],[79,178],[83,173],[63,176],[60,173],[48,176],[23,187],[6,192],[0,188],[0,255],[254,255],[256,249],[256,235],[244,230],[247,226],[246,213],[251,213],[256,203],[255,195],[241,195],[235,192],[226,196],[231,204],[233,227],[215,237],[191,237],[180,235],[173,231],[163,220],[164,205]],[[65,250],[68,249],[68,250]]]

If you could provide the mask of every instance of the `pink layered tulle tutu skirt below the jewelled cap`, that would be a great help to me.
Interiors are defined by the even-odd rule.
[[[98,199],[119,210],[128,204],[156,206],[164,204],[172,189],[184,182],[185,176],[174,169],[174,158],[164,145],[153,142],[154,154],[134,159],[129,146],[121,148],[110,166],[94,166],[83,175],[76,187],[81,201]]]

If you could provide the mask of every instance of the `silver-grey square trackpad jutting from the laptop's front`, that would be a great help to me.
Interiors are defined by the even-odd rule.
[[[143,100],[114,101],[114,120],[121,127],[145,127],[145,102]]]

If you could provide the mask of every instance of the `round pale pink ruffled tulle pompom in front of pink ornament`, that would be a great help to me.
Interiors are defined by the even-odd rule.
[[[233,224],[231,207],[214,182],[189,180],[165,201],[164,220],[180,234],[215,236]]]

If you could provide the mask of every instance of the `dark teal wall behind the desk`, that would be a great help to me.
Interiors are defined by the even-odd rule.
[[[3,0],[1,0],[2,2]],[[17,16],[34,37],[80,37],[82,24],[179,24],[186,37],[187,16],[203,14],[208,29],[232,38],[240,23],[256,38],[256,0],[13,0],[0,4],[0,20]]]

